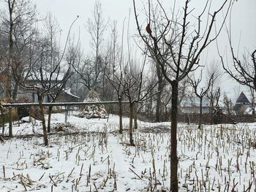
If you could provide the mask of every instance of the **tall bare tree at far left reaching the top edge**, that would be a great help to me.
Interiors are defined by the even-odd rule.
[[[18,84],[12,83],[12,66],[26,63],[24,62],[26,60],[24,55],[26,55],[28,44],[34,36],[33,25],[36,22],[36,9],[30,0],[5,0],[5,2],[7,4],[7,12],[1,15],[3,20],[1,33],[8,39],[8,51],[5,56],[7,61],[5,96],[7,98],[12,96],[12,99],[15,99]],[[23,67],[20,69],[22,70]],[[20,79],[20,75],[18,79]]]

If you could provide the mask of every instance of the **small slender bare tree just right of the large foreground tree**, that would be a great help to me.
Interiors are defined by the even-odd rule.
[[[203,70],[203,69],[202,69]],[[200,106],[200,116],[199,116],[199,123],[198,123],[198,128],[200,129],[202,126],[202,114],[203,114],[203,97],[206,96],[208,93],[210,86],[211,86],[211,80],[212,77],[208,78],[208,82],[206,83],[205,86],[200,85],[202,80],[203,80],[203,72],[200,72],[200,76],[196,79],[195,74],[192,75],[192,77],[189,78],[189,84],[193,88],[193,92],[195,93],[195,96],[199,99],[199,106]]]

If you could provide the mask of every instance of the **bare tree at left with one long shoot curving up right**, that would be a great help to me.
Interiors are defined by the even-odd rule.
[[[48,66],[45,65],[47,64],[47,61],[49,59],[48,51],[50,50],[51,52],[51,49],[48,49],[48,37],[41,37],[41,39],[40,37],[37,37],[37,46],[34,46],[34,50],[31,50],[31,61],[29,62],[30,65],[23,73],[22,80],[18,80],[17,74],[17,68],[19,68],[20,65],[15,64],[11,66],[15,81],[18,83],[20,88],[37,94],[45,145],[48,145],[47,132],[50,131],[50,127],[47,130],[45,125],[45,114],[42,102],[44,101],[45,96],[51,96],[51,98],[55,100],[56,96],[58,96],[59,93],[64,90],[64,86],[70,77],[70,68],[66,70],[61,70],[61,61],[64,58],[64,53],[67,48],[67,42],[69,39],[71,28],[76,20],[78,20],[78,18],[76,18],[69,27],[67,40],[64,45],[64,50],[59,57],[59,61],[57,62],[57,64],[52,66],[51,69],[48,69]]]

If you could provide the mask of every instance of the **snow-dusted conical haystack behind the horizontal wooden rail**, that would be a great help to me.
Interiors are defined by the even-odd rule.
[[[96,91],[91,89],[83,102],[100,101]],[[104,104],[90,104],[80,108],[78,117],[80,118],[108,118],[108,112],[105,110]]]

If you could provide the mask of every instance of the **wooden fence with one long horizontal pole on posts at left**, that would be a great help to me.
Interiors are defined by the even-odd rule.
[[[119,101],[96,101],[96,102],[65,102],[65,103],[42,103],[43,107],[64,106],[86,106],[91,104],[119,104]],[[121,104],[129,104],[129,101],[121,101]],[[14,103],[1,104],[2,107],[8,108],[9,115],[9,137],[12,137],[12,107],[38,107],[39,103]],[[65,110],[65,121],[67,121],[67,110]]]

